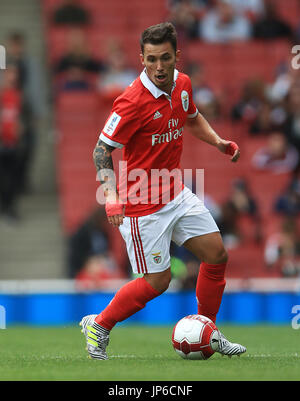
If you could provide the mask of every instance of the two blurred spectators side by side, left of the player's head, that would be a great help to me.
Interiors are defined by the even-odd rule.
[[[53,66],[55,94],[94,90],[112,102],[123,92],[137,77],[138,71],[129,65],[117,39],[111,39],[105,45],[105,57],[95,58],[89,51],[85,32],[78,27],[70,29],[65,53]]]

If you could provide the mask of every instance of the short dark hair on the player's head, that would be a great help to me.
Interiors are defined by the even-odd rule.
[[[170,42],[174,51],[177,50],[177,32],[171,22],[162,22],[157,25],[152,25],[141,35],[140,45],[142,53],[144,54],[144,45],[150,43],[152,45],[160,45],[162,43]]]

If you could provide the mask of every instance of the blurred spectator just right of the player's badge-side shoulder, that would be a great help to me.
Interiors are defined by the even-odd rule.
[[[220,117],[220,102],[213,90],[206,84],[204,67],[199,64],[191,64],[187,68],[192,81],[193,99],[199,112],[207,120],[215,120]]]

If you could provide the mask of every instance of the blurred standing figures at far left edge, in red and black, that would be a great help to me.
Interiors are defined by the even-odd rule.
[[[32,190],[30,169],[37,122],[44,112],[39,67],[30,57],[26,37],[6,38],[6,68],[0,71],[0,219],[20,219],[19,199]]]

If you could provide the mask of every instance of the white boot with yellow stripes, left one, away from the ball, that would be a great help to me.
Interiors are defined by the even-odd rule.
[[[108,359],[106,347],[109,343],[109,331],[95,322],[97,315],[84,316],[79,323],[81,332],[87,341],[89,357],[93,359]]]

